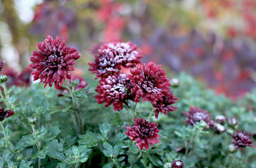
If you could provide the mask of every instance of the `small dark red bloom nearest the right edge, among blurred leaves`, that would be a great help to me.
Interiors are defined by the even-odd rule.
[[[251,134],[246,133],[245,131],[236,130],[236,134],[231,135],[234,139],[232,143],[235,147],[238,148],[245,148],[246,146],[252,146],[253,141],[251,140]]]

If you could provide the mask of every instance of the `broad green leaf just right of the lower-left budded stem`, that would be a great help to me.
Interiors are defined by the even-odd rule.
[[[46,155],[65,162],[64,154],[62,153],[62,143],[58,143],[58,140],[52,140],[51,142],[48,142],[47,145],[49,146],[49,151],[46,153]]]

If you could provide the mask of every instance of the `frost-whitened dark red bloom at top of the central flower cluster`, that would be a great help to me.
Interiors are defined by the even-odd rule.
[[[141,63],[141,51],[131,42],[128,43],[107,43],[98,49],[94,55],[95,61],[88,63],[92,73],[96,73],[97,78],[105,78],[108,75],[118,72],[121,66],[133,68]]]

